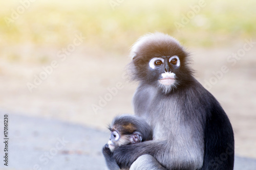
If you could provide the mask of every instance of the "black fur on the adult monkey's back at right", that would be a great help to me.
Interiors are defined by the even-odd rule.
[[[216,101],[206,117],[204,161],[201,170],[232,170],[234,136],[229,119]]]

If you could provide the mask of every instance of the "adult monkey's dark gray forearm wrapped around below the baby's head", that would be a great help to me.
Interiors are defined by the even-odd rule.
[[[141,155],[148,154],[157,159],[158,155],[166,152],[166,145],[167,141],[156,140],[122,145],[115,149],[113,152],[113,157],[121,168],[129,168],[132,163]]]

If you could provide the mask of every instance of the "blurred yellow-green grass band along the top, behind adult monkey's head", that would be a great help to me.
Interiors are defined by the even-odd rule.
[[[141,35],[160,31],[176,37],[188,46],[230,45],[255,37],[256,1],[205,1],[206,6],[184,28],[175,22],[191,11],[199,1],[127,1],[113,10],[104,1],[35,1],[8,27],[5,17],[19,1],[2,2],[0,44],[32,43],[56,48],[73,41],[76,32],[86,44],[103,50],[127,51]]]

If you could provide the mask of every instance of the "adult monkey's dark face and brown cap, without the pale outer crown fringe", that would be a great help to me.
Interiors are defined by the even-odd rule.
[[[186,80],[186,53],[175,42],[148,43],[133,58],[136,79],[168,93]]]

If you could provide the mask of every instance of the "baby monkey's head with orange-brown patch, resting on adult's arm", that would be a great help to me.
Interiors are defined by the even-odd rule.
[[[124,144],[134,144],[153,139],[150,125],[143,118],[134,115],[115,117],[109,130],[111,135],[108,145],[111,152]]]

